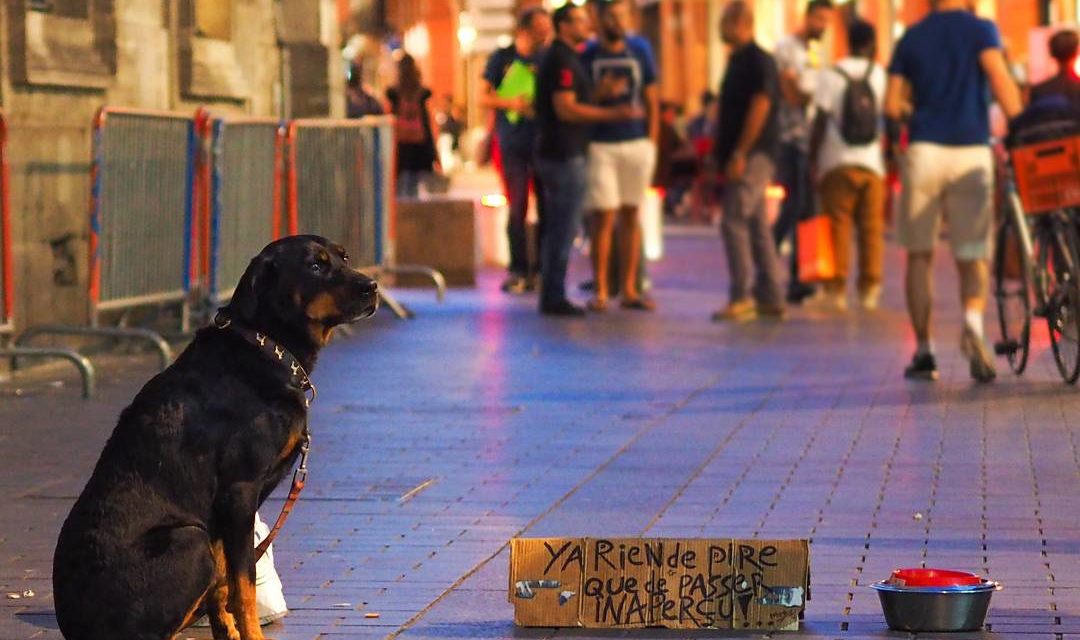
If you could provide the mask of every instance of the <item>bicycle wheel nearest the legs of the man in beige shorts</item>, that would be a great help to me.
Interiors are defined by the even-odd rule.
[[[1027,367],[1031,345],[1031,270],[1016,222],[1007,217],[998,228],[994,255],[994,298],[998,307],[1001,340],[994,344],[1017,376]]]

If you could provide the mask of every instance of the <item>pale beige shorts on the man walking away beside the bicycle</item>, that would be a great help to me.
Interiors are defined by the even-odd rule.
[[[896,235],[909,251],[933,250],[942,222],[959,260],[989,258],[994,227],[994,156],[986,145],[913,144],[903,160]]]

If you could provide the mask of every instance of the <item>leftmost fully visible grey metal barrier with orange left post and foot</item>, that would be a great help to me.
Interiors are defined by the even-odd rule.
[[[172,351],[156,331],[99,325],[103,312],[175,304],[180,330],[189,330],[195,149],[190,115],[98,111],[91,164],[90,326],[30,327],[15,339],[17,345],[44,335],[132,339],[149,343],[161,367],[168,366]]]

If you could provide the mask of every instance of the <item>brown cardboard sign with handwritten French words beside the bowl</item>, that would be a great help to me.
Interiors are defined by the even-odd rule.
[[[798,629],[805,540],[514,539],[510,601],[523,627]]]

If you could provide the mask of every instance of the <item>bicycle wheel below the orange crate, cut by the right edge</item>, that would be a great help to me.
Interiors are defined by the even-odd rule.
[[[1080,263],[1076,227],[1064,214],[1048,214],[1053,236],[1042,244],[1039,265],[1047,276],[1047,326],[1062,379],[1080,378]]]

